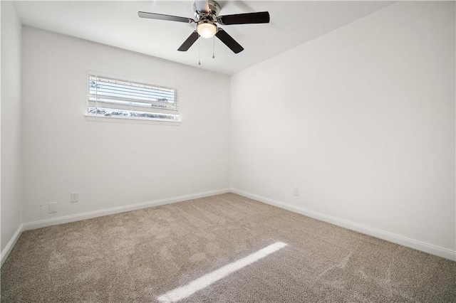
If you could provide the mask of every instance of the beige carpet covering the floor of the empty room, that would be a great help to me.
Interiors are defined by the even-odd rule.
[[[456,302],[456,262],[227,193],[25,231],[1,268],[1,302],[157,302],[185,285],[180,302]]]

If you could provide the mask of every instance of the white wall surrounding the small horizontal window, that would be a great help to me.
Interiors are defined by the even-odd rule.
[[[227,76],[28,27],[23,66],[25,223],[229,188]],[[86,70],[177,85],[182,124],[87,121]]]

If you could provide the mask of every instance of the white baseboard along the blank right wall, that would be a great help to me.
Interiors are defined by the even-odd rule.
[[[333,216],[328,216],[324,213],[318,213],[316,211],[311,211],[306,208],[301,208],[299,206],[292,206],[288,203],[279,202],[270,198],[265,198],[263,196],[258,196],[254,193],[248,193],[246,191],[241,191],[237,188],[231,188],[232,193],[237,193],[239,196],[244,196],[247,198],[252,198],[254,200],[270,204],[272,206],[277,206],[279,208],[284,208],[288,211],[293,211],[294,213],[301,213],[301,215],[315,218],[317,220],[322,220],[334,225],[341,226],[343,228],[348,228],[350,230],[355,230],[358,233],[364,233],[366,235],[371,235],[375,238],[380,238],[387,240],[396,244],[407,246],[408,248],[414,248],[415,250],[421,250],[423,252],[430,253],[432,255],[438,255],[439,257],[445,257],[446,259],[456,261],[456,252],[454,250],[448,250],[446,248],[440,248],[438,246],[424,243],[418,240],[413,240],[402,235],[395,235],[394,233],[388,233],[377,228],[371,228],[366,225],[361,225],[354,223],[348,220],[343,220],[341,218],[336,218]]]

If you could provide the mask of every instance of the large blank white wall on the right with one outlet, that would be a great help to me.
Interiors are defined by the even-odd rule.
[[[231,95],[233,188],[455,250],[455,2],[388,6]]]

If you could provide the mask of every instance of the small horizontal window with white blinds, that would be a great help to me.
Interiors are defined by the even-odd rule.
[[[178,90],[88,75],[88,116],[180,121]]]

